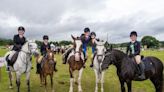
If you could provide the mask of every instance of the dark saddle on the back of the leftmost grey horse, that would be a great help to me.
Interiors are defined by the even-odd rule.
[[[6,61],[9,66],[13,66],[18,58],[19,52],[16,51],[15,54],[12,56],[11,60],[9,59],[10,54],[6,57]]]

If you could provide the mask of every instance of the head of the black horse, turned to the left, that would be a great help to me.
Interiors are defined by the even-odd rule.
[[[114,61],[116,60],[113,50],[112,50],[112,46],[110,49],[107,49],[107,51],[105,52],[105,56],[101,65],[101,69],[105,70],[109,67],[109,65],[111,65],[112,63],[114,63]]]

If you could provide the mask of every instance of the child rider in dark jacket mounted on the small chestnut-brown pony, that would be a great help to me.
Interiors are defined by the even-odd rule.
[[[49,40],[49,37],[47,35],[44,35],[43,36],[43,43],[42,43],[41,48],[40,48],[40,52],[41,52],[41,55],[43,57],[46,57],[47,49],[49,49],[49,50],[51,49],[51,46],[50,46],[48,40]],[[39,59],[39,60],[42,60],[43,57],[41,57],[41,59]],[[40,68],[41,68],[41,64],[37,63],[37,73],[39,73],[39,69]],[[56,69],[56,61],[54,62],[54,71],[57,71],[57,69]]]

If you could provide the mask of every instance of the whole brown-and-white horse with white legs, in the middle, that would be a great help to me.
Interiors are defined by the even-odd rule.
[[[83,72],[83,67],[85,64],[84,55],[82,51],[82,41],[80,37],[75,38],[72,36],[73,39],[73,49],[72,52],[69,54],[67,58],[67,62],[69,64],[69,73],[70,73],[70,89],[69,92],[73,92],[73,82],[76,83],[76,78],[74,78],[73,73],[75,70],[79,72],[78,74],[78,92],[82,92],[81,87],[81,76]]]

